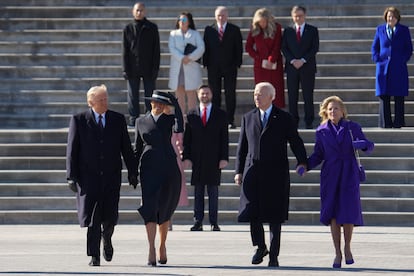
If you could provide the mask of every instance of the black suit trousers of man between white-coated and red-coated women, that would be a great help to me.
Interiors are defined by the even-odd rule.
[[[212,102],[217,107],[221,107],[222,79],[226,100],[227,121],[229,124],[233,124],[234,113],[236,111],[237,68],[229,69],[225,72],[221,72],[219,69],[208,68],[208,85],[213,92]]]

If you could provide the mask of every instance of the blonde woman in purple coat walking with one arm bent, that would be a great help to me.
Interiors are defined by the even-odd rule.
[[[321,124],[316,130],[314,152],[308,159],[308,170],[322,164],[320,221],[331,226],[335,247],[334,268],[341,267],[341,226],[344,229],[345,263],[354,263],[351,238],[354,226],[363,225],[359,192],[359,165],[355,150],[370,152],[359,124],[347,119],[347,111],[337,96],[326,98],[319,110]]]

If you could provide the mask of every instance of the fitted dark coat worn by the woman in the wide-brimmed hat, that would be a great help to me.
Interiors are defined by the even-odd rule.
[[[182,118],[182,115],[180,115]],[[168,221],[177,208],[181,172],[171,144],[173,127],[182,132],[174,115],[162,114],[157,122],[148,112],[135,125],[135,155],[139,160],[142,204],[138,209],[145,224]]]

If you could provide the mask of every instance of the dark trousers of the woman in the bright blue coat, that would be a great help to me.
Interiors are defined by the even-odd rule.
[[[394,123],[391,118],[391,96],[382,95],[379,96],[379,100],[378,126],[383,128],[405,126],[404,96],[394,96]]]

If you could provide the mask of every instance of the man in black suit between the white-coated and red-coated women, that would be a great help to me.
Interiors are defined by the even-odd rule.
[[[237,69],[242,64],[242,35],[240,28],[227,22],[226,7],[215,11],[216,23],[204,30],[203,65],[207,67],[208,85],[213,92],[213,104],[221,107],[221,84],[224,82],[226,112],[229,127],[235,128]]]

